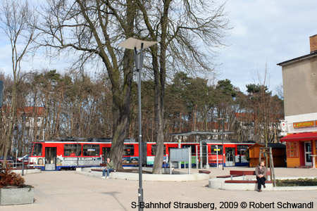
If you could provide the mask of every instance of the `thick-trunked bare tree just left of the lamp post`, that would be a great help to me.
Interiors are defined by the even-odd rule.
[[[42,44],[56,55],[75,53],[80,65],[101,62],[106,68],[112,91],[113,144],[111,156],[121,168],[123,141],[130,115],[133,51],[120,51],[118,43],[132,37],[135,4],[127,1],[47,0],[44,23],[39,30]]]

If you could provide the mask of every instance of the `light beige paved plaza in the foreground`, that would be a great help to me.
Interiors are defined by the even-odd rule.
[[[246,167],[213,167],[210,178],[229,174],[230,170],[253,170]],[[187,171],[187,170],[183,170]],[[192,173],[197,172],[196,169]],[[275,168],[276,177],[317,177],[317,170]],[[105,211],[137,210],[138,181],[101,179],[75,171],[42,172],[24,176],[35,186],[35,203],[1,206],[0,210],[32,211]],[[144,210],[317,210],[317,191],[224,191],[208,187],[204,181],[143,181],[146,205],[161,208]],[[290,208],[290,203],[313,204],[312,209]],[[150,204],[151,203],[151,204]],[[208,208],[186,208],[188,205]],[[242,208],[242,203],[247,205]],[[261,206],[266,205],[267,208]],[[166,208],[164,208],[165,206]],[[221,206],[223,208],[221,208]],[[229,208],[233,206],[233,208]],[[285,208],[282,208],[284,206]],[[287,207],[288,206],[288,207]],[[237,207],[237,208],[235,208]],[[259,207],[259,208],[256,208]]]

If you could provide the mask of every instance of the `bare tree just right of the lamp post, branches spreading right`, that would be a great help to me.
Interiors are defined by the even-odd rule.
[[[158,40],[151,46],[151,63],[155,92],[156,157],[154,173],[160,173],[163,162],[164,96],[168,72],[211,71],[214,48],[223,45],[228,29],[224,4],[216,1],[139,1],[142,18],[136,25],[140,37]],[[143,24],[142,24],[143,23]],[[204,48],[201,46],[204,45]],[[204,50],[203,50],[204,49]],[[169,68],[170,67],[170,68]]]

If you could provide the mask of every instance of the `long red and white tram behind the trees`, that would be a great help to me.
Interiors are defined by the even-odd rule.
[[[42,170],[99,166],[110,155],[111,141],[112,139],[108,138],[65,138],[38,141],[32,143],[29,160],[35,164],[35,167],[41,167]],[[153,165],[156,143],[144,142],[142,144],[144,165]],[[166,142],[164,143],[164,160],[168,160],[170,148],[191,147],[193,165],[196,165],[201,159],[205,165],[208,158],[209,165],[216,166],[217,149],[218,163],[221,164],[224,148],[225,166],[249,165],[244,158],[244,152],[251,144],[254,143],[237,143],[228,140],[224,141],[223,146],[218,140],[204,141],[202,146],[199,146],[199,143]],[[135,139],[125,139],[122,163],[123,166],[138,166],[139,143],[135,142]]]

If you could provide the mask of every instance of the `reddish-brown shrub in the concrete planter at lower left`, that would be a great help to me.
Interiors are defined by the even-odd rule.
[[[25,180],[10,168],[0,170],[0,188],[25,187]]]

